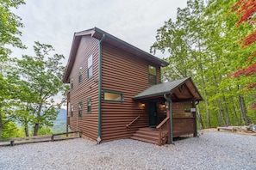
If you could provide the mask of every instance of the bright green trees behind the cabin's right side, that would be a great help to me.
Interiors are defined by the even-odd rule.
[[[240,64],[247,63],[256,47],[241,49],[237,44],[251,28],[235,27],[238,16],[230,14],[233,4],[234,0],[189,0],[186,8],[178,9],[176,21],[165,21],[158,29],[151,47],[151,52],[170,53],[165,58],[170,65],[162,70],[163,81],[192,76],[203,94],[199,110],[204,127],[250,124],[247,117],[255,118],[255,112],[245,106],[255,96],[244,90],[247,82],[255,79],[229,77]]]

